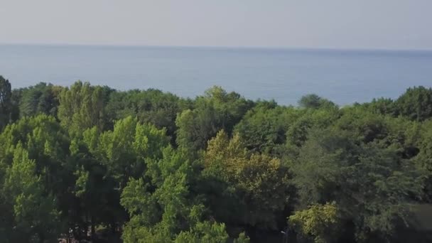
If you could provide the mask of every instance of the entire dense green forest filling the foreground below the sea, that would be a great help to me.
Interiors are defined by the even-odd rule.
[[[432,241],[430,87],[340,107],[11,86],[1,242]]]

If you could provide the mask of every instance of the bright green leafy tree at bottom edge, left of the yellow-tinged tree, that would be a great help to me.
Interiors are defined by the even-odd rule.
[[[163,158],[148,160],[146,178],[131,179],[121,194],[121,205],[131,220],[125,242],[170,242],[202,217],[202,206],[190,194],[192,167],[179,151],[166,148]]]

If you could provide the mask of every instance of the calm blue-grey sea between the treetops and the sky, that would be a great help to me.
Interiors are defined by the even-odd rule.
[[[195,97],[212,85],[249,99],[296,104],[309,93],[338,104],[396,98],[432,85],[432,51],[0,45],[13,87],[76,80]]]

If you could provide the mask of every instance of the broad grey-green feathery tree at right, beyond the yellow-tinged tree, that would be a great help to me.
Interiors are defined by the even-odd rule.
[[[357,241],[390,239],[406,222],[421,173],[392,148],[356,144],[344,131],[314,131],[294,162],[300,205],[335,201]]]

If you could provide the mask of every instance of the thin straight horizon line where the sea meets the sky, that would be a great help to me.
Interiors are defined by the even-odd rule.
[[[336,48],[307,46],[264,46],[264,45],[128,45],[128,44],[94,44],[94,43],[0,43],[0,45],[47,46],[47,47],[107,47],[107,48],[208,48],[208,49],[256,49],[256,50],[340,50],[340,51],[426,51],[432,48]]]

